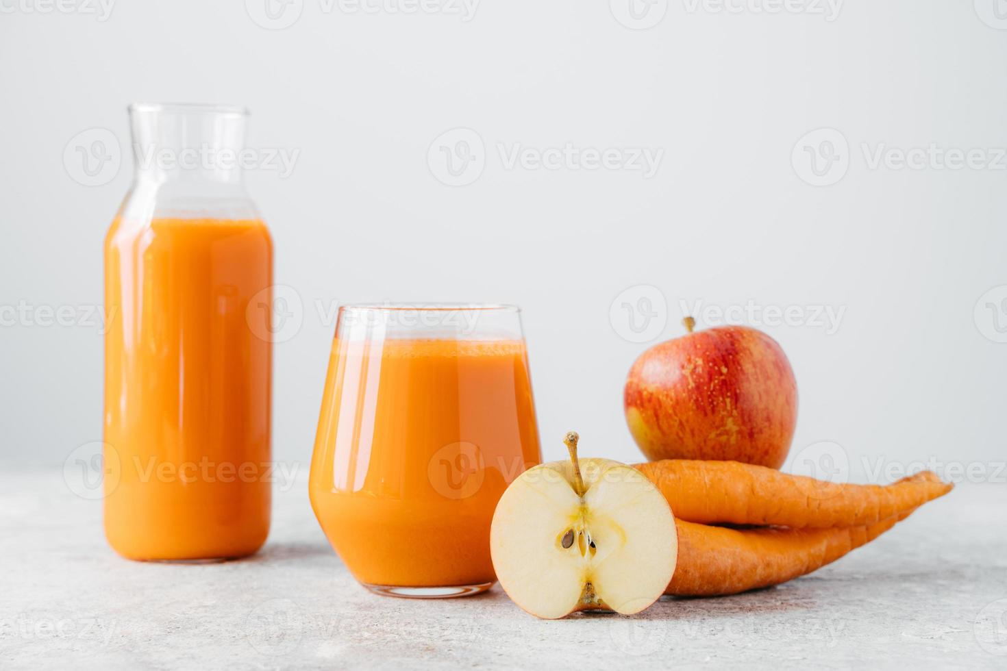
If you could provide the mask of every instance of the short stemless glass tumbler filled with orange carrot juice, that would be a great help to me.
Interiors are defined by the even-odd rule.
[[[413,598],[487,590],[496,502],[540,461],[518,308],[340,308],[310,496],[364,585]]]

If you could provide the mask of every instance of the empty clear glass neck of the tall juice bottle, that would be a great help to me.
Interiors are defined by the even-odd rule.
[[[184,191],[241,188],[244,110],[195,105],[130,108],[138,184]]]

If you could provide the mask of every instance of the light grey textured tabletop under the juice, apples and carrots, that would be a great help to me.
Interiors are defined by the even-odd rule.
[[[962,485],[788,584],[543,622],[499,588],[407,601],[358,586],[304,483],[242,561],[136,563],[59,472],[0,479],[0,668],[1007,668],[1007,488]]]

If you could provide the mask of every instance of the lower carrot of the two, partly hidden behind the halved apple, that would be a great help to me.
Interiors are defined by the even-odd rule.
[[[677,519],[679,559],[665,594],[712,597],[779,584],[835,561],[905,515],[829,529],[739,530]]]

